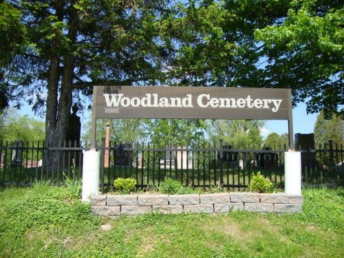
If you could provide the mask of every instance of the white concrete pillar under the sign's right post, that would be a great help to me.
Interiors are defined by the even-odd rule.
[[[284,192],[301,195],[301,152],[284,153]]]

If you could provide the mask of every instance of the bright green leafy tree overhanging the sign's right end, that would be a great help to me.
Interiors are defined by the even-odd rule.
[[[255,34],[264,43],[266,86],[291,88],[294,104],[309,98],[307,111],[325,118],[344,118],[343,14],[343,1],[290,1],[284,19]]]

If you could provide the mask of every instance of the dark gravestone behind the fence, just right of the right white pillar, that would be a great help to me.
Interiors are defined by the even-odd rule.
[[[314,133],[295,133],[295,149],[297,151],[309,151],[315,149]],[[307,167],[308,171],[314,171],[316,166],[316,153],[301,153],[301,167],[303,170]]]

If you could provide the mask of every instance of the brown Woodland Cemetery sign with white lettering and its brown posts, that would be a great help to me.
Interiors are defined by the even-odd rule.
[[[94,86],[93,101],[94,127],[96,118],[288,120],[292,138],[290,89]]]

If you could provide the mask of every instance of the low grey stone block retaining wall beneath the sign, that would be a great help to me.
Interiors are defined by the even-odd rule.
[[[285,193],[211,193],[189,195],[95,195],[91,211],[110,217],[144,213],[228,213],[252,211],[259,213],[299,213],[302,195]]]

